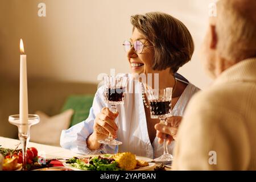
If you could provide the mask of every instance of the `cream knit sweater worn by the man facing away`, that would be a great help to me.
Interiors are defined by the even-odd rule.
[[[174,170],[256,170],[256,58],[226,69],[192,98]]]

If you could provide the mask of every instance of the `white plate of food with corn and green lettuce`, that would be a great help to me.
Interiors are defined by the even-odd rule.
[[[150,171],[155,163],[148,158],[135,156],[130,152],[104,155],[86,155],[63,161],[63,165],[75,171]]]

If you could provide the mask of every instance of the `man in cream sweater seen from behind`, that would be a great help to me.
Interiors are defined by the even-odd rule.
[[[174,170],[256,170],[255,12],[255,0],[218,1],[202,49],[216,80],[185,111]]]

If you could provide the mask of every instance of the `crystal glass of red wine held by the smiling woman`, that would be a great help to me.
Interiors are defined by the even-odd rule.
[[[104,77],[104,99],[107,104],[110,104],[110,111],[117,113],[117,105],[123,104],[127,85],[127,77],[120,76],[105,76]],[[109,137],[105,140],[98,140],[99,143],[109,145],[119,145],[122,142],[115,140],[109,133]]]

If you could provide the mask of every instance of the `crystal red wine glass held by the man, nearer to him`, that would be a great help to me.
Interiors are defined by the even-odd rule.
[[[151,118],[159,118],[160,124],[167,125],[167,117],[171,117],[171,100],[172,100],[172,88],[166,89],[147,89],[147,100],[150,105]],[[174,158],[168,153],[166,134],[163,142],[163,155],[154,159],[155,162],[168,163]]]

